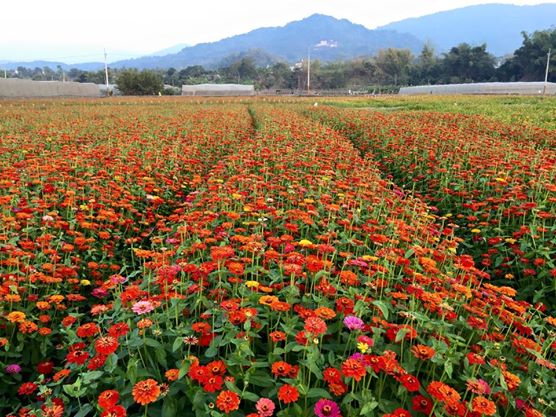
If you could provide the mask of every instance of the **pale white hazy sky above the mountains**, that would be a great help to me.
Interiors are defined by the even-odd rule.
[[[408,17],[481,3],[531,5],[542,0],[2,0],[0,62],[49,59],[68,63],[145,54],[196,44],[313,13],[346,18],[369,29]]]

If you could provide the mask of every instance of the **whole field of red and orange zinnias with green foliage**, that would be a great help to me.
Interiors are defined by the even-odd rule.
[[[553,416],[555,141],[303,102],[0,103],[0,413]]]

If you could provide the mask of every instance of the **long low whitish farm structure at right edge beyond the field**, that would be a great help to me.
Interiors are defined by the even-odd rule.
[[[517,94],[542,95],[544,82],[418,85],[400,88],[401,95],[419,94]],[[546,84],[546,94],[556,94],[556,83]]]

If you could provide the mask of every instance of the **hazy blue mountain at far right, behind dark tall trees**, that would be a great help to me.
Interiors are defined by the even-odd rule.
[[[556,25],[556,3],[536,6],[484,4],[423,17],[405,19],[379,29],[410,33],[430,42],[436,52],[448,51],[462,42],[487,44],[487,50],[503,56],[521,46],[521,32],[550,29]]]

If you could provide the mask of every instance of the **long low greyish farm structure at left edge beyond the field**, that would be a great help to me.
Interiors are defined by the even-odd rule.
[[[25,97],[100,97],[100,90],[92,83],[0,79],[0,98]]]

